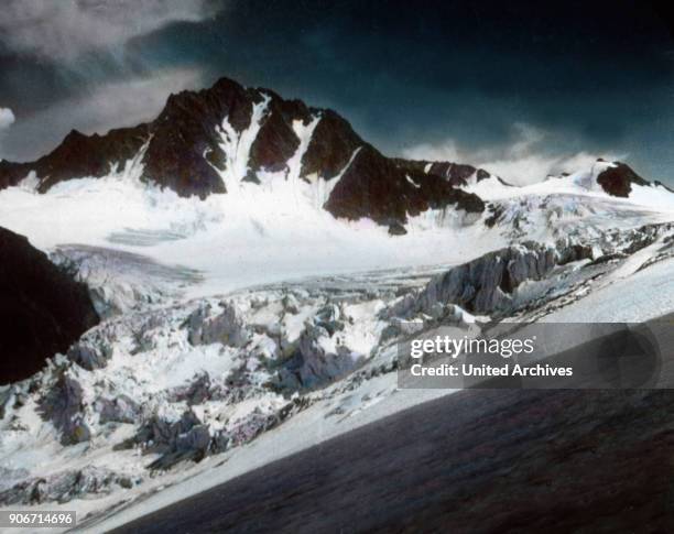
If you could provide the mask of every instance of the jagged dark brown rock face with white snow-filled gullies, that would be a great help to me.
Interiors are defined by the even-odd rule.
[[[476,195],[454,187],[460,181],[441,176],[442,168],[428,174],[385,157],[336,112],[227,78],[172,95],[146,124],[105,135],[73,131],[35,162],[0,162],[0,189],[34,172],[37,190],[45,193],[65,179],[105,176],[132,159],[142,163],[143,179],[181,196],[227,193],[240,182],[259,183],[265,173],[325,181],[331,195],[324,207],[333,215],[385,226],[448,205],[485,209]],[[470,168],[453,165],[449,174],[463,176]]]

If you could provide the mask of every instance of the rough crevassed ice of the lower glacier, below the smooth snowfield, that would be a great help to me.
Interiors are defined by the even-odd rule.
[[[498,303],[485,298],[475,313],[523,322],[566,309],[581,316],[589,310],[585,302],[607,295],[615,308],[613,293],[622,292],[626,302],[632,280],[668,280],[673,238],[674,226],[660,224],[552,248],[513,246],[477,260],[490,273],[480,281],[493,279],[493,287],[477,287],[480,281],[467,276],[465,266],[393,269],[196,299],[181,293],[194,273],[143,263],[138,254],[62,248],[59,261],[101,295],[123,295],[120,284],[133,290],[115,309],[108,304],[108,318],[67,356],[0,392],[0,468],[11,481],[0,490],[0,503],[58,506],[57,500],[67,508],[77,500],[78,509],[98,514],[180,483],[187,473],[199,473],[202,482],[192,488],[203,489],[236,472],[211,472],[211,456],[246,458],[261,440],[273,444],[273,450],[264,449],[272,459],[292,449],[273,436],[287,439],[316,422],[334,435],[369,413],[427,399],[394,394],[396,341],[406,333],[404,322],[423,327],[443,318],[474,328],[488,318],[465,312],[453,295],[469,287],[507,292]],[[503,264],[492,260],[521,257],[521,265],[531,266],[532,250],[545,265],[530,272],[508,262],[512,283],[503,285]],[[551,254],[555,260],[548,262]],[[456,287],[445,291],[449,282]],[[672,309],[674,291],[657,287],[664,298],[659,309]],[[650,298],[649,292],[630,291],[629,306],[641,314],[637,301],[640,293]],[[612,313],[607,309],[604,320]],[[371,412],[374,406],[380,412]]]

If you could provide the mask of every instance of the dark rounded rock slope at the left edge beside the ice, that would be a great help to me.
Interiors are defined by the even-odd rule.
[[[0,384],[25,379],[98,324],[87,287],[0,228]]]

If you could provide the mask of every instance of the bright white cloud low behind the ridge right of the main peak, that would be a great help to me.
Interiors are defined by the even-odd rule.
[[[515,185],[533,184],[548,175],[586,168],[600,156],[609,161],[627,157],[627,154],[555,150],[555,146],[564,144],[557,138],[531,124],[515,123],[510,139],[496,148],[470,150],[460,146],[454,139],[446,139],[436,144],[412,146],[404,150],[403,155],[412,160],[469,163]]]

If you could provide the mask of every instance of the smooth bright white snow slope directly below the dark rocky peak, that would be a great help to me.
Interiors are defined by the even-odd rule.
[[[260,184],[227,174],[228,193],[205,200],[144,184],[141,171],[130,162],[107,177],[63,182],[46,194],[30,185],[7,188],[0,226],[44,250],[107,247],[202,271],[206,283],[193,296],[298,276],[453,263],[502,243],[452,208],[413,219],[402,237],[367,219],[337,220],[323,204],[339,176],[307,182],[296,166],[287,176],[260,173]]]

